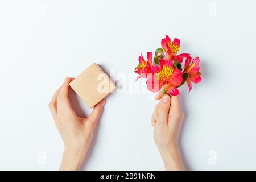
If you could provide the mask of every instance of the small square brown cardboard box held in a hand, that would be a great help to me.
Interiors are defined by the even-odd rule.
[[[93,63],[69,83],[85,104],[92,108],[115,89],[115,85],[102,69]]]

